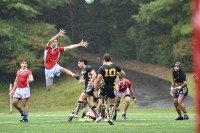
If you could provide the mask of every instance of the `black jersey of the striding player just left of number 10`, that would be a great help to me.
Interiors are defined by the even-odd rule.
[[[83,78],[85,80],[85,86],[88,85],[88,82],[92,78],[92,75],[91,75],[92,70],[94,70],[94,69],[91,66],[87,65],[81,72],[83,74]]]

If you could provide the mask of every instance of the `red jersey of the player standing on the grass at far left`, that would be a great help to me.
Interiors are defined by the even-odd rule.
[[[32,75],[32,72],[28,69],[25,70],[18,70],[16,73],[16,77],[17,77],[17,88],[26,88],[29,87],[28,84],[28,76]]]

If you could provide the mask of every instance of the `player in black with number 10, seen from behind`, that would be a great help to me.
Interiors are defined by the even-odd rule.
[[[108,123],[113,125],[113,114],[115,112],[115,79],[117,74],[121,77],[125,77],[125,72],[116,64],[112,63],[110,54],[105,54],[103,65],[99,68],[98,76],[95,82],[95,91],[98,91],[101,80],[105,82],[105,91],[108,97]]]

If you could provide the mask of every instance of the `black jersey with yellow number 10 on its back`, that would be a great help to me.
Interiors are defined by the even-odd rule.
[[[116,64],[103,65],[99,68],[98,74],[103,76],[105,86],[114,86],[117,72],[121,72],[121,68]]]

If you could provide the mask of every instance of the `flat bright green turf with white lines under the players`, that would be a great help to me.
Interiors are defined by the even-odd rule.
[[[131,109],[127,120],[121,113],[114,125],[107,122],[67,122],[69,112],[30,113],[28,123],[19,122],[19,113],[0,113],[0,132],[7,133],[194,133],[193,113],[189,120],[176,121],[173,109]],[[190,109],[192,112],[192,109]],[[80,115],[79,115],[80,116]]]

